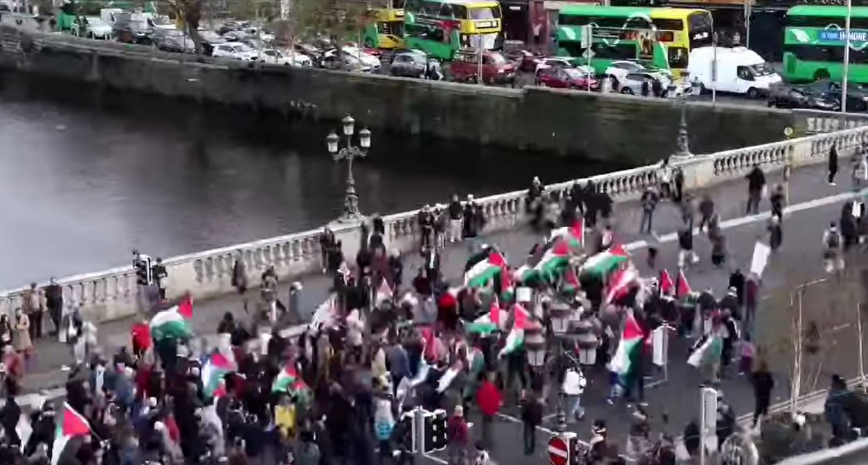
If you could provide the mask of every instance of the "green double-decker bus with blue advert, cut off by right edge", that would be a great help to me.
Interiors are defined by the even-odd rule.
[[[784,77],[790,82],[841,81],[845,6],[794,6],[784,25]],[[852,7],[848,80],[868,83],[868,7]]]

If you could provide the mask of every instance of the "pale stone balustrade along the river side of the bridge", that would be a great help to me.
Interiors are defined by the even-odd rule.
[[[847,157],[860,149],[868,128],[851,128],[827,134],[816,134],[788,141],[772,142],[755,147],[727,150],[716,154],[697,155],[687,160],[673,160],[685,174],[685,189],[695,190],[737,180],[745,176],[753,165],[766,172],[786,165],[793,167],[823,162],[832,146],[839,156]],[[661,166],[651,165],[591,176],[578,182],[593,181],[616,202],[637,200],[646,187],[658,182]],[[549,185],[549,192],[564,193],[575,181]],[[483,233],[503,231],[516,224],[522,211],[525,191],[514,191],[483,197],[477,202],[483,208],[487,224]],[[396,213],[384,217],[386,240],[390,248],[411,251],[417,246],[418,210]],[[344,253],[354,257],[362,237],[358,224],[332,225],[343,240]],[[190,291],[195,298],[209,298],[233,292],[233,266],[244,264],[247,284],[260,283],[260,274],[269,265],[281,277],[299,276],[317,272],[323,264],[319,252],[321,230],[296,232],[246,244],[221,247],[164,260],[168,271],[168,297],[179,297]],[[58,279],[63,289],[63,304],[67,310],[81,309],[82,313],[102,321],[133,314],[137,310],[138,292],[135,272],[131,266],[118,267]],[[45,283],[40,284],[40,287]],[[0,311],[10,313],[22,305],[26,288],[0,292]]]

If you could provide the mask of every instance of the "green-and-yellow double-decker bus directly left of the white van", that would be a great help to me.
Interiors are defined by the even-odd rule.
[[[590,64],[599,73],[613,61],[641,59],[679,77],[690,50],[711,45],[713,36],[711,14],[687,8],[569,5],[557,21],[557,53],[562,56],[587,58],[582,35],[590,26]]]

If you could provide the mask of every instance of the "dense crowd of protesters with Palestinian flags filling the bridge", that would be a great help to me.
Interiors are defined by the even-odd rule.
[[[491,423],[506,407],[520,409],[524,451],[534,454],[551,386],[565,421],[582,421],[588,370],[610,373],[608,402],[629,403],[634,424],[621,449],[608,437],[605,419],[595,419],[587,462],[620,463],[623,451],[646,465],[674,463],[674,439],[652,437],[644,403],[655,331],[672,330],[695,341],[687,363],[700,370],[704,385],[717,387],[721,377],[744,375],[753,384],[754,424],[767,414],[774,379],[753,344],[760,277],[733,269],[721,298],[711,289],[691,289],[686,271],[699,259],[693,252],[694,212],[717,266],[726,264],[720,217],[710,196],[697,202],[684,192],[681,169],[666,162],[660,169],[659,184],[641,196],[639,227],[653,234],[661,202],[678,207],[682,224],[674,277],[655,266],[655,246],[648,249],[652,276],[636,271],[615,239],[613,201],[593,182],[557,193],[534,178],[524,213],[546,239],[521,263],[510,265],[497,246],[477,242],[486,218],[472,196],[420,210],[423,265],[406,285],[404,259],[388,250],[382,219],[365,225],[354,259],[345,257],[340,240],[325,229],[321,265],[332,289],[300,334],[283,330],[299,323],[301,286],[290,286],[284,305],[273,268],[260,278],[266,311],[244,318],[227,313],[215,328],[216,339],[197,343],[192,334],[155,332],[165,312],[177,313],[184,305],[192,312],[188,297],[166,302],[163,291],[157,308],[131,328],[128,347],[111,354],[95,346],[95,330],[77,314],[64,324],[62,292],[53,280],[43,290],[32,285],[14,321],[0,318],[7,373],[0,463],[404,463],[413,454],[400,419],[416,407],[449,412],[450,463],[490,463],[488,451],[496,442]],[[747,184],[746,212],[756,213],[766,189],[759,167],[748,174]],[[777,250],[786,195],[776,187],[768,199],[770,242]],[[845,205],[837,244],[834,226],[824,239],[828,250],[858,243],[862,208],[854,201]],[[848,218],[856,220],[855,229],[846,226]],[[441,271],[445,245],[457,241],[469,242],[471,249],[458,280]],[[232,272],[240,294],[247,292],[247,278],[240,257]],[[558,305],[569,308],[572,337],[545,337],[548,353],[563,355],[531,364],[525,341],[552,334]],[[41,337],[43,310],[54,330],[82,349],[76,350],[62,407],[44,403],[25,415],[15,395],[23,357]],[[188,317],[183,311],[178,315],[178,321]],[[720,396],[717,435],[723,442],[735,425],[732,408]],[[468,416],[480,418],[473,429]],[[69,422],[76,421],[86,426],[67,434]],[[23,422],[30,425],[26,435]],[[692,455],[699,448],[697,428],[689,422],[685,429]],[[69,441],[58,445],[58,437]]]

